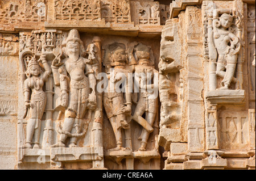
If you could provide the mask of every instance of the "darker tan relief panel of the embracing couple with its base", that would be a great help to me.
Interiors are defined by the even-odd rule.
[[[122,39],[104,43],[103,49],[103,65],[109,82],[104,89],[104,110],[108,118],[104,127],[111,125],[112,128],[107,129],[115,138],[112,146],[106,146],[106,165],[111,167],[109,164],[114,162],[119,169],[136,169],[145,167],[144,164],[152,159],[152,162],[155,160],[154,167],[158,167],[159,153],[155,145],[158,94],[154,89],[152,91],[154,81],[157,81],[154,73],[158,71],[154,69],[152,49],[137,41],[128,43]],[[134,82],[131,81],[133,77]],[[143,156],[145,154],[147,157]]]

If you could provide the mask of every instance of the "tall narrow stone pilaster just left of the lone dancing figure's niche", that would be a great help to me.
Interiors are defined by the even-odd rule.
[[[188,151],[203,152],[204,139],[204,103],[203,62],[201,58],[201,10],[188,6],[185,11],[187,32],[187,83],[188,83]]]

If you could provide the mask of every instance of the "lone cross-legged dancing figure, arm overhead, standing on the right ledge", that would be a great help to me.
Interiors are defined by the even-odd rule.
[[[237,82],[234,72],[241,43],[239,37],[233,33],[233,16],[230,11],[214,9],[213,31],[210,33],[210,59],[213,62],[217,61],[216,74],[223,78],[220,89],[229,89],[231,82]],[[220,18],[218,14],[222,14]]]

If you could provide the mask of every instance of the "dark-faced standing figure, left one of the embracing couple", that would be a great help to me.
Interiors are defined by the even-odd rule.
[[[131,149],[131,135],[129,116],[131,115],[131,91],[133,87],[129,87],[127,83],[128,74],[132,73],[127,69],[127,53],[125,48],[121,45],[110,46],[110,65],[107,69],[108,86],[104,91],[104,108],[106,115],[112,125],[117,147],[110,149],[110,151],[121,150],[122,143],[122,129],[125,131],[126,148]],[[119,89],[121,85],[125,85],[125,94]],[[132,85],[131,85],[132,86]],[[125,96],[124,96],[125,95]]]

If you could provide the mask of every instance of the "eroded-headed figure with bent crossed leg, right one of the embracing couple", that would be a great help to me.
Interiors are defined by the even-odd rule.
[[[143,127],[138,139],[141,140],[139,151],[145,151],[148,136],[154,131],[152,125],[158,111],[158,91],[154,91],[154,88],[158,90],[158,82],[155,82],[156,85],[154,85],[154,76],[158,76],[158,71],[151,65],[150,49],[146,45],[138,44],[134,52],[138,58],[138,65],[135,66],[135,79],[137,78],[139,87],[139,100],[134,111],[133,120]],[[144,113],[145,119],[142,117]]]

